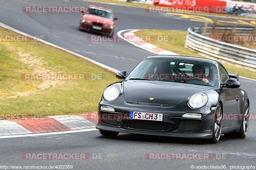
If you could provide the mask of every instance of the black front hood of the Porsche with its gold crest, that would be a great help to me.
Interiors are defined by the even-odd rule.
[[[178,104],[195,93],[212,87],[164,81],[124,81],[124,98],[132,102]],[[153,97],[153,100],[149,98]]]

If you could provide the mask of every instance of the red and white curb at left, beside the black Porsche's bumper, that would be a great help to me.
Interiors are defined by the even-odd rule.
[[[97,113],[0,120],[0,136],[95,128]]]

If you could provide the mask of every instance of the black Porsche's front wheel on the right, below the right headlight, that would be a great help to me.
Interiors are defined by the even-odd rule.
[[[220,103],[218,103],[214,113],[212,138],[208,139],[208,143],[211,143],[211,144],[218,143],[218,141],[220,140],[221,128],[222,128],[222,109],[221,109]]]

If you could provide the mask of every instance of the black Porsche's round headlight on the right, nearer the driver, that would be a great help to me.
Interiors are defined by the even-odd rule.
[[[190,97],[188,104],[194,108],[198,109],[203,107],[208,101],[208,97],[204,93],[197,93]]]

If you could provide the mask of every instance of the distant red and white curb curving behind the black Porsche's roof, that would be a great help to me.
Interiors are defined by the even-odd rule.
[[[134,34],[134,32],[138,32],[140,30],[121,30],[119,32],[117,32],[117,35],[124,39],[125,41],[137,46],[137,47],[140,47],[144,50],[147,50],[151,53],[155,53],[155,54],[159,54],[159,55],[180,55],[180,54],[177,54],[177,53],[173,53],[172,51],[168,51],[168,50],[165,50],[163,48],[159,48],[153,44],[150,44],[142,39],[140,39],[138,36],[136,36]],[[124,36],[122,35],[122,33],[124,32]],[[131,40],[128,40],[126,39],[125,37],[129,37],[129,36],[132,36],[134,37],[134,39],[136,39],[136,41],[131,41]]]

